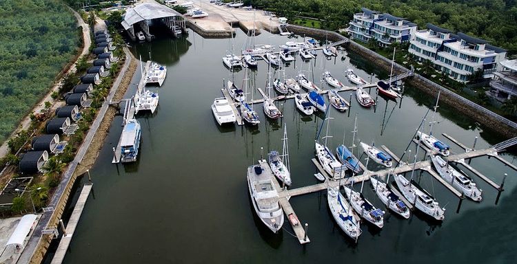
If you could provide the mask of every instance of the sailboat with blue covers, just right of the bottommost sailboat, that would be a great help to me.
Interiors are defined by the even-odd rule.
[[[363,183],[364,184],[364,183]],[[344,186],[345,195],[348,197],[348,201],[350,201],[350,205],[359,217],[373,223],[378,228],[383,228],[384,226],[384,212],[381,209],[375,208],[372,203],[370,203],[361,193]]]

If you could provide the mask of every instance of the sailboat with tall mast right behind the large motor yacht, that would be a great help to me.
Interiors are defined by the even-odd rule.
[[[287,144],[287,126],[284,124],[282,138],[282,155],[278,151],[271,151],[267,154],[273,174],[280,179],[285,185],[291,186],[291,174],[289,164],[289,146]]]

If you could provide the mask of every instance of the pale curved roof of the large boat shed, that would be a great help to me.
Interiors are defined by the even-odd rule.
[[[121,24],[125,30],[128,30],[133,24],[139,23],[140,21],[176,16],[181,17],[181,14],[165,5],[159,3],[142,3],[141,5],[136,5],[134,8],[126,10]]]

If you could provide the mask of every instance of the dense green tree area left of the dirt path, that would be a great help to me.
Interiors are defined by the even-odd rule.
[[[76,54],[77,21],[59,0],[0,1],[0,142]]]

